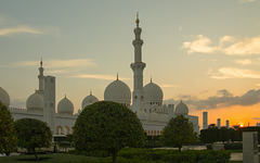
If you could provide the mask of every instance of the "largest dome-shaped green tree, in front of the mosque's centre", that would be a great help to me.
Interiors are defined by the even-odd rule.
[[[107,151],[116,162],[117,152],[125,147],[140,147],[144,130],[138,116],[127,106],[100,101],[88,105],[74,126],[74,143],[78,151]]]

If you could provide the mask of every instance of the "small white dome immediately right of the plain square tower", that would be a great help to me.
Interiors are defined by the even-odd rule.
[[[62,99],[57,104],[57,113],[73,114],[74,113],[73,102],[68,100],[66,97]]]

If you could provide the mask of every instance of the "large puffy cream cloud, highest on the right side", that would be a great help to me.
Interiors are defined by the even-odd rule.
[[[210,38],[197,35],[195,40],[183,42],[182,49],[186,49],[188,54],[195,52],[222,52],[229,55],[260,54],[260,36],[251,38],[223,36],[219,39],[217,46],[212,46]]]

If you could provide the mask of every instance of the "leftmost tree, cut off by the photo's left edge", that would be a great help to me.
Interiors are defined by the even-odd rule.
[[[16,148],[14,122],[8,108],[0,102],[0,153],[9,155]]]

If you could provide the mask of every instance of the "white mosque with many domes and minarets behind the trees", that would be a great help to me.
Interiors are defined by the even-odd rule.
[[[136,17],[136,27],[134,28],[135,39],[132,41],[134,47],[134,62],[130,64],[133,71],[133,91],[123,82],[112,82],[104,91],[105,101],[121,103],[132,110],[140,118],[147,136],[161,135],[162,128],[171,117],[184,115],[193,123],[194,130],[199,133],[198,116],[188,115],[188,108],[182,101],[174,108],[174,104],[164,104],[164,92],[161,88],[153,83],[143,86],[143,71],[145,63],[142,62],[142,29],[139,27],[140,20]],[[54,136],[64,136],[73,134],[73,127],[78,113],[74,114],[74,104],[66,98],[62,99],[57,106],[55,104],[55,77],[43,75],[42,61],[39,67],[39,89],[28,97],[26,109],[10,108],[9,93],[0,87],[0,101],[9,106],[14,120],[30,117],[47,122]],[[91,92],[81,103],[82,109],[99,99]],[[55,109],[56,106],[56,109]]]

